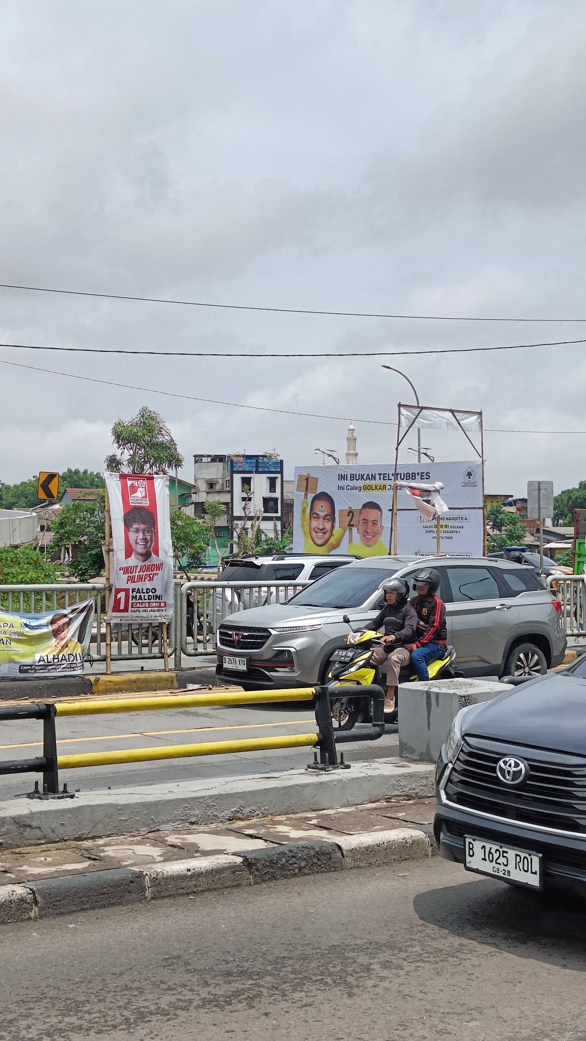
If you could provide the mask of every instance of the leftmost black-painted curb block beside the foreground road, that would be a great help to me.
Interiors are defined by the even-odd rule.
[[[145,879],[141,871],[114,867],[105,871],[70,874],[60,879],[29,882],[34,893],[40,918],[54,918],[75,911],[137,904],[147,898]]]

